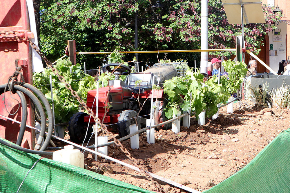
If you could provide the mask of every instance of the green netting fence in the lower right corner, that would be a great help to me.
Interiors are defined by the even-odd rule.
[[[204,192],[290,192],[290,129],[282,131],[247,166]]]

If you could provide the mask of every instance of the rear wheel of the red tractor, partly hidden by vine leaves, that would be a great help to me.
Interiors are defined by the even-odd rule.
[[[166,107],[167,103],[168,103],[167,98],[164,98],[162,100],[156,100],[154,102],[154,106],[156,106],[155,116],[154,116],[155,124],[160,124],[160,123],[168,120],[166,118],[165,112],[164,112],[164,108]],[[156,127],[156,130],[160,130],[160,129],[168,130],[168,129],[171,129],[171,127],[172,127],[172,122],[165,124],[165,125],[162,125],[162,126],[158,126],[158,127]]]

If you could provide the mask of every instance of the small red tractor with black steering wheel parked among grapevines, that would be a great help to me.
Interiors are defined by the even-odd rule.
[[[165,63],[166,64],[166,63]],[[108,64],[106,70],[115,74],[115,80],[110,80],[107,87],[88,91],[87,105],[96,113],[96,102],[98,102],[98,117],[113,133],[119,133],[120,137],[130,134],[129,126],[136,124],[141,127],[146,126],[146,119],[150,118],[151,98],[153,94],[155,108],[154,120],[156,124],[166,121],[163,109],[167,104],[166,94],[162,89],[152,93],[153,76],[154,84],[159,84],[162,88],[165,80],[170,80],[174,76],[184,75],[185,70],[182,65],[177,69],[168,63],[167,65],[154,65],[144,72],[131,73],[130,67],[116,63]],[[187,66],[187,65],[186,65]],[[180,73],[180,71],[182,71]],[[119,80],[120,75],[128,75],[125,82]],[[147,100],[148,99],[148,100]],[[137,117],[137,118],[136,118]],[[89,126],[86,139],[92,132],[94,119],[87,113],[76,113],[71,117],[68,131],[70,138],[75,142],[82,142],[85,139],[86,130]],[[157,129],[169,129],[171,124],[163,125]]]

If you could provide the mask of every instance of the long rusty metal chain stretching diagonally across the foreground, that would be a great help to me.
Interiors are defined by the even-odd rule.
[[[108,131],[108,128],[106,125],[102,124],[100,119],[95,116],[95,113],[87,106],[87,104],[79,97],[79,95],[72,89],[70,84],[65,82],[65,79],[63,76],[59,75],[58,70],[55,69],[51,62],[44,56],[42,52],[40,52],[39,48],[31,41],[30,38],[28,38],[28,41],[33,49],[41,56],[41,58],[45,61],[46,65],[52,69],[52,72],[57,75],[58,79],[65,84],[66,89],[70,90],[71,94],[77,99],[77,101],[90,113],[90,115],[94,118],[95,122],[97,122],[101,129],[104,130],[106,133],[110,134],[113,138],[114,143],[122,150],[122,152],[133,162],[134,166],[139,168],[139,170],[145,175],[146,179],[153,182],[153,185],[155,188],[159,189],[159,192],[165,192],[160,184],[153,180],[153,177],[147,173],[146,167],[144,165],[139,165],[137,163],[137,160],[131,155],[131,153],[121,144],[121,142],[114,137],[114,134],[110,131]]]

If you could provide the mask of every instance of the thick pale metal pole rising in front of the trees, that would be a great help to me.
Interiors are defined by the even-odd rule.
[[[201,1],[201,49],[208,48],[207,0]],[[200,53],[200,72],[207,73],[207,52]]]

